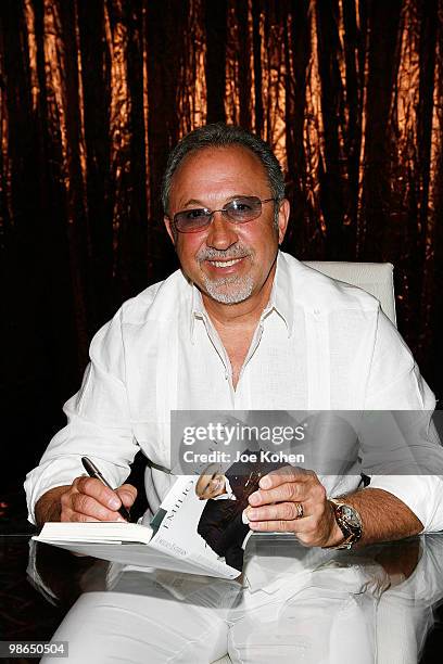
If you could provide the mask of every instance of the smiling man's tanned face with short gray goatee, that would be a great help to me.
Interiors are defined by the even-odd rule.
[[[221,209],[238,196],[271,197],[266,171],[258,158],[241,146],[206,148],[190,154],[172,181],[170,218],[194,208]],[[264,203],[258,218],[232,224],[216,213],[212,224],[198,232],[174,232],[181,268],[202,291],[203,298],[231,305],[270,292],[278,243],[288,222],[289,204],[281,204],[275,226],[275,203]]]

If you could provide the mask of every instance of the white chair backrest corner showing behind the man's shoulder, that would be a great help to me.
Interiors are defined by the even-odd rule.
[[[381,308],[396,325],[394,296],[394,266],[391,263],[344,263],[334,260],[304,260],[308,267],[356,285],[380,302]]]

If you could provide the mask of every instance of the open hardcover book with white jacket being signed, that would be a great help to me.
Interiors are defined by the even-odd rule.
[[[150,526],[121,522],[49,522],[34,539],[125,564],[236,578],[241,572],[248,526],[241,523],[241,515],[240,521],[238,515],[232,518],[235,501],[200,500],[195,494],[198,480],[190,475],[178,477]],[[218,505],[208,505],[215,502]],[[229,527],[223,532],[214,522],[214,510],[207,509],[214,507],[231,509]],[[235,560],[237,569],[227,564],[225,558]]]

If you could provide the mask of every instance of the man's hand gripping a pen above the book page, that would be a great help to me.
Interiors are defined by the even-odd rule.
[[[118,513],[122,503],[129,509],[137,497],[131,484],[114,491],[100,480],[85,475],[69,486],[58,486],[43,494],[36,505],[38,525],[46,521],[125,521]]]

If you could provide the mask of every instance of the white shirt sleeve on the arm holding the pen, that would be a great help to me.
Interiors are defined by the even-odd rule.
[[[81,457],[97,463],[112,486],[129,474],[137,452],[125,384],[119,314],[93,337],[90,362],[80,390],[63,408],[67,424],[50,442],[40,463],[25,481],[28,519],[49,489],[72,484],[85,474]]]

